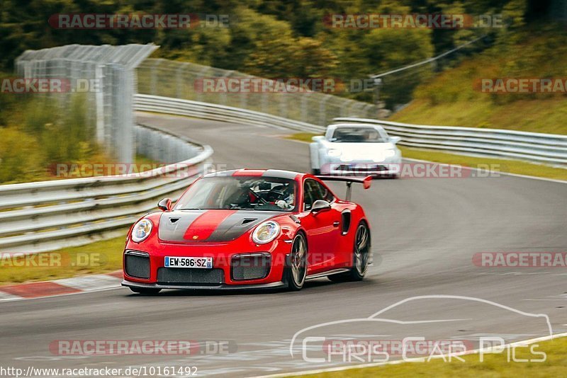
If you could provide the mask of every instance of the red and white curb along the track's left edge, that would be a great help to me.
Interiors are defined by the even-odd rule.
[[[120,287],[122,271],[103,275],[83,275],[62,280],[30,282],[0,286],[0,302],[19,299],[54,297],[56,295],[99,292]]]

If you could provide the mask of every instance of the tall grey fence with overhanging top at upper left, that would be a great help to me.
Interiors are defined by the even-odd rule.
[[[85,96],[85,120],[108,154],[123,163],[134,159],[133,96],[135,68],[156,45],[65,45],[28,50],[16,59],[16,72],[26,79],[62,79],[57,93],[62,111],[71,96]],[[68,96],[64,96],[67,94]]]

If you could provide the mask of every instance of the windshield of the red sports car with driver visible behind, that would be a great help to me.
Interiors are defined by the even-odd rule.
[[[296,182],[287,178],[208,177],[193,183],[175,209],[291,211],[296,197]]]

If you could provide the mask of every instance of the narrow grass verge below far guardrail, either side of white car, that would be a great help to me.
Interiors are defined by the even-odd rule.
[[[287,139],[298,140],[301,142],[311,142],[311,138],[316,134],[308,132],[300,132],[288,135]],[[556,180],[567,181],[567,169],[554,168],[552,166],[544,166],[540,164],[532,164],[526,161],[490,159],[483,157],[473,157],[466,155],[447,154],[445,152],[423,149],[412,149],[409,147],[399,146],[402,156],[407,159],[420,159],[434,161],[444,164],[459,164],[468,167],[485,167],[486,164],[494,166],[497,171],[506,173],[516,173],[519,175],[535,176],[543,178],[554,178]]]

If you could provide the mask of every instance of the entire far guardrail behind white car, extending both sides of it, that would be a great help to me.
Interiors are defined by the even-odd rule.
[[[319,125],[289,120],[276,115],[178,98],[137,94],[134,108],[135,110],[187,115],[247,125],[284,127],[299,132],[325,131],[325,127]],[[564,135],[471,127],[409,125],[369,118],[335,118],[333,122],[381,125],[389,134],[402,138],[400,145],[408,147],[520,159],[544,164],[567,164],[567,136]]]

